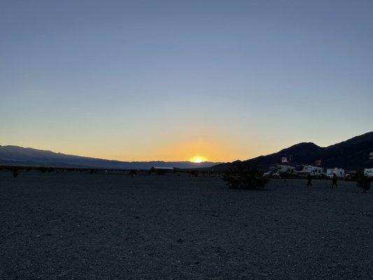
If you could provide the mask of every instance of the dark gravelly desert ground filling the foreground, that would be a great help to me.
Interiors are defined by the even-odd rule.
[[[372,279],[373,193],[0,172],[0,279]]]

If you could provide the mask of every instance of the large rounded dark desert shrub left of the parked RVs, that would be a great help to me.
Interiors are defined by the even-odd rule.
[[[223,181],[230,188],[257,190],[265,188],[268,179],[262,176],[255,167],[239,163],[234,165],[223,174]]]

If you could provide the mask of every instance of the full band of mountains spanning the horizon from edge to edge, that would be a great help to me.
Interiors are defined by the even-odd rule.
[[[347,141],[328,147],[320,147],[314,143],[300,143],[285,148],[278,153],[262,155],[258,158],[242,161],[244,165],[253,165],[260,170],[267,170],[271,165],[281,164],[283,157],[292,158],[288,165],[315,165],[321,160],[322,167],[339,167],[346,170],[372,168],[373,132],[353,137]],[[122,162],[118,160],[102,160],[77,155],[65,155],[51,151],[22,148],[19,146],[0,146],[0,165],[25,165],[43,167],[77,167],[101,169],[150,169],[157,167],[176,167],[182,169],[209,168],[225,170],[241,161],[219,162]]]

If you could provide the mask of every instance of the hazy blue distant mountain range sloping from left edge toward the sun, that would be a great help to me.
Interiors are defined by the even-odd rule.
[[[118,160],[103,160],[99,158],[65,155],[52,151],[22,148],[19,146],[0,146],[0,165],[36,166],[36,167],[74,167],[99,169],[150,169],[151,167],[176,167],[195,169],[211,167],[219,162],[122,162]]]

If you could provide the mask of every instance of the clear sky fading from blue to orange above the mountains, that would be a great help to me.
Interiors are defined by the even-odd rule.
[[[0,145],[246,160],[373,130],[373,1],[0,1]]]

